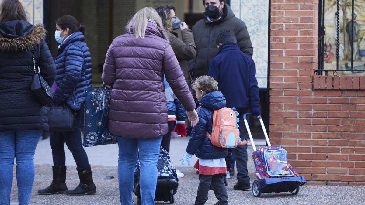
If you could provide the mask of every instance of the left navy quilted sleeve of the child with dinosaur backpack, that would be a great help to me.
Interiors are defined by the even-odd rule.
[[[199,149],[201,142],[205,138],[205,132],[207,132],[208,116],[203,109],[197,109],[196,111],[199,116],[198,124],[191,131],[191,137],[189,139],[188,147],[186,152],[189,154],[195,154]]]

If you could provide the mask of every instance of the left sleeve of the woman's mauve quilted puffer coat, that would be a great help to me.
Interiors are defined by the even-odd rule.
[[[107,52],[107,56],[105,57],[103,74],[101,75],[101,78],[103,78],[105,84],[113,87],[115,82],[116,67],[112,49],[113,49],[113,44],[110,45]]]

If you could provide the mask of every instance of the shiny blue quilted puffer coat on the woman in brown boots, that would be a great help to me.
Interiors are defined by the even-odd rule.
[[[80,31],[74,32],[61,43],[54,61],[58,88],[53,101],[66,102],[73,110],[80,109],[81,102],[85,101],[84,89],[91,87],[91,56],[84,39]]]

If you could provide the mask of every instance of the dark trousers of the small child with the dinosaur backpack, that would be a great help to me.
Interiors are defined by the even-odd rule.
[[[199,174],[199,187],[195,200],[195,205],[205,204],[208,200],[208,192],[212,185],[215,197],[219,200],[218,204],[228,205],[228,194],[224,184],[223,174],[204,175]]]

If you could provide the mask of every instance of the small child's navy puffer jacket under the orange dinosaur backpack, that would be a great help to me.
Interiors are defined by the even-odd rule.
[[[220,91],[205,94],[197,109],[199,123],[193,128],[186,148],[189,154],[195,154],[202,159],[218,159],[227,156],[228,148],[216,147],[205,134],[212,134],[213,113],[215,110],[226,107],[226,99]]]

